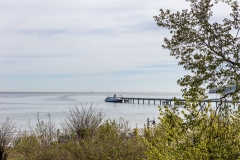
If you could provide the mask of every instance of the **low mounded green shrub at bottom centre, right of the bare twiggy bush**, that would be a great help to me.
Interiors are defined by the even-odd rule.
[[[136,138],[121,134],[116,121],[106,121],[93,137],[82,140],[81,145],[67,146],[75,159],[141,159],[145,158],[145,147]]]

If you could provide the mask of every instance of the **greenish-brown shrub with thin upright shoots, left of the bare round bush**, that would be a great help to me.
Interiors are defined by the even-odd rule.
[[[26,160],[67,159],[69,155],[57,144],[59,131],[56,130],[50,114],[47,122],[40,120],[39,116],[37,113],[37,124],[34,128],[29,123],[30,131],[18,135],[14,145],[15,154]]]

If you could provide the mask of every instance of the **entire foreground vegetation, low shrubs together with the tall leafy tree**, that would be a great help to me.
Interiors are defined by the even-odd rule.
[[[172,34],[171,39],[164,39],[163,47],[192,72],[178,80],[186,101],[175,99],[173,106],[159,107],[159,124],[146,127],[142,136],[134,129],[129,138],[127,122],[103,122],[101,110],[82,106],[81,110],[70,109],[61,131],[55,129],[50,115],[43,122],[38,114],[36,128],[13,143],[14,125],[8,118],[0,124],[0,158],[240,159],[240,106],[233,109],[240,91],[238,2],[221,0],[232,12],[222,23],[213,23],[212,7],[219,0],[186,1],[190,10],[171,13],[161,9],[154,17]],[[224,93],[232,85],[236,89]],[[212,88],[221,94],[216,107],[206,94]],[[226,103],[229,99],[233,104]]]

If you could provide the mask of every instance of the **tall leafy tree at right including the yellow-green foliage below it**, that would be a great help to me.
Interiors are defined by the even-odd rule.
[[[222,0],[232,9],[222,23],[212,22],[212,7],[219,0],[186,0],[190,10],[171,13],[160,9],[157,25],[167,28],[163,48],[192,72],[178,80],[185,102],[175,99],[172,107],[160,108],[160,123],[146,129],[143,141],[149,159],[238,159],[240,158],[239,101],[240,17],[238,2]],[[233,92],[225,93],[235,85]],[[217,107],[211,106],[206,91],[217,88]]]

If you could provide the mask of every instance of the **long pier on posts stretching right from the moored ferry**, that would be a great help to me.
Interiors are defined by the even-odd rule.
[[[124,103],[137,103],[137,104],[153,104],[158,105],[171,105],[174,102],[174,98],[134,98],[134,97],[120,97]],[[185,99],[178,99],[179,101],[185,101]],[[216,103],[216,106],[221,102],[219,99],[205,100],[204,102]],[[224,101],[224,103],[232,103],[232,101]],[[238,102],[240,103],[240,102]],[[235,108],[235,107],[234,107]]]

